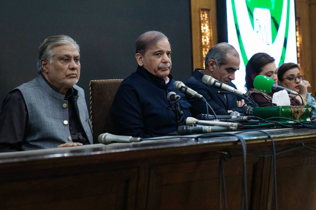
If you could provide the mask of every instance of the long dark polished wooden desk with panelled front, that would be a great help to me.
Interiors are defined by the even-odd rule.
[[[269,131],[276,149],[316,144],[315,129]],[[248,151],[270,151],[264,134],[242,134]],[[0,154],[0,209],[219,209],[220,152],[229,209],[240,209],[236,137],[88,145]],[[247,155],[250,209],[274,209],[271,157]],[[316,209],[316,153],[277,155],[279,209]]]

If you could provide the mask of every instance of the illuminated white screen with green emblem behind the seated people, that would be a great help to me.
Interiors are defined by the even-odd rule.
[[[245,67],[258,52],[275,58],[276,66],[297,63],[294,0],[227,0],[228,43],[240,55],[233,83],[245,90]]]

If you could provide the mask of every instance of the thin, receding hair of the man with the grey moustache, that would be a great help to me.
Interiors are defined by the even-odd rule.
[[[144,55],[148,48],[155,45],[163,38],[169,40],[165,34],[159,31],[148,31],[143,33],[136,41],[136,53]]]

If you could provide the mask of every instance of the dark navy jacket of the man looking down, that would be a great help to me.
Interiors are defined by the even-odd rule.
[[[237,99],[238,101],[240,101],[239,97],[237,98],[237,96],[235,95],[226,94],[226,100],[224,95],[218,94],[216,92],[218,91],[218,89],[211,85],[206,85],[202,82],[202,77],[204,76],[204,74],[199,72],[199,70],[203,69],[195,69],[193,76],[185,82],[186,86],[201,94],[214,109],[214,112],[217,115],[229,115],[227,110],[241,110],[241,108],[237,107]],[[230,83],[229,86],[236,88],[233,83]],[[191,104],[190,112],[193,117],[198,114],[206,114],[205,102],[192,97],[188,97],[187,99],[188,102]],[[212,114],[210,110],[209,114]]]

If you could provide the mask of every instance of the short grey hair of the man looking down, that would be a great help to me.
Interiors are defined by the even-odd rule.
[[[226,64],[227,53],[232,53],[234,56],[239,57],[239,54],[234,46],[228,44],[227,42],[214,45],[205,56],[205,68],[211,59],[216,62],[217,68],[220,68],[223,64]]]

